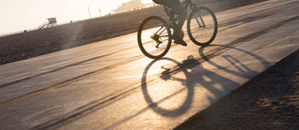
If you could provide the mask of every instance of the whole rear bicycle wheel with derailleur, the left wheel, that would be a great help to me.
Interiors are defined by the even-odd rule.
[[[137,40],[140,50],[151,59],[166,55],[171,47],[171,30],[160,17],[151,16],[139,26]]]

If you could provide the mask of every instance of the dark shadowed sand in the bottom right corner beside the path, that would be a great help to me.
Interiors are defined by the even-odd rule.
[[[299,50],[176,130],[299,130]]]

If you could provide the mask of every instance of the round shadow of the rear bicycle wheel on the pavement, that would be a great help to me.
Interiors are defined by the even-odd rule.
[[[187,68],[192,68],[193,65],[197,65],[199,63],[196,60],[194,60],[193,56],[189,56],[187,60],[183,61],[183,63],[180,63],[171,58],[161,58],[161,59],[153,60],[152,62],[150,62],[149,65],[146,67],[146,69],[143,72],[143,76],[142,76],[142,80],[141,80],[142,92],[143,92],[145,100],[149,104],[149,107],[152,108],[155,112],[157,112],[163,116],[175,117],[175,116],[178,116],[178,115],[184,113],[186,110],[188,110],[188,108],[190,108],[192,98],[193,98],[193,87],[186,87],[186,88],[180,89],[179,91],[176,91],[176,92],[172,93],[171,95],[164,97],[160,101],[154,102],[152,100],[152,98],[150,97],[149,90],[148,90],[147,73],[153,64],[155,64],[156,62],[164,61],[164,60],[171,61],[175,65],[172,68],[165,68],[164,66],[161,66],[161,69],[165,69],[165,70],[159,75],[159,78],[163,79],[164,81],[169,81],[169,80],[180,81],[180,82],[182,82],[182,84],[185,84],[186,86],[190,86],[188,84],[189,83],[188,82],[189,72],[187,71]],[[185,79],[171,77],[171,75],[178,73],[179,71],[182,71],[186,75],[186,77],[187,77],[186,81],[185,81]],[[188,96],[180,108],[168,110],[166,108],[161,108],[157,105],[165,100],[168,100],[172,96],[181,93],[182,91],[184,91],[186,89],[188,91],[188,94],[187,94]]]

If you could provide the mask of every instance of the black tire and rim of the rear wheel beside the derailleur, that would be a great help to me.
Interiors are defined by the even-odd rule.
[[[142,32],[146,32],[146,31],[148,31],[149,29],[155,29],[155,28],[157,28],[155,25],[152,25],[152,23],[150,24],[149,22],[151,21],[151,20],[157,20],[157,21],[159,21],[159,22],[161,22],[161,24],[162,25],[166,25],[167,24],[167,22],[164,20],[164,19],[162,19],[162,18],[160,18],[160,17],[157,17],[157,16],[150,16],[150,17],[148,17],[148,18],[146,18],[141,24],[140,24],[140,26],[139,26],[139,28],[138,28],[138,33],[137,33],[137,41],[138,41],[138,45],[139,45],[139,48],[140,48],[140,50],[142,51],[142,53],[145,55],[145,56],[147,56],[147,57],[149,57],[149,58],[151,58],[151,59],[159,59],[159,58],[161,58],[161,57],[163,57],[163,56],[165,56],[166,55],[166,53],[169,51],[169,49],[170,49],[170,47],[171,47],[171,30],[170,30],[170,28],[166,28],[166,30],[167,30],[167,34],[168,34],[168,39],[167,40],[165,40],[165,44],[166,44],[166,41],[168,42],[167,44],[166,44],[166,47],[161,47],[160,49],[156,49],[156,50],[153,50],[153,51],[150,51],[149,52],[149,50],[147,50],[146,48],[145,48],[145,43],[147,43],[147,42],[143,42],[142,41]],[[147,24],[147,23],[149,23],[149,25],[150,26],[152,26],[153,28],[150,28],[150,27],[145,27],[145,25]],[[159,23],[160,24],[160,23]],[[145,29],[145,30],[143,30],[143,29]],[[163,29],[162,29],[163,30]],[[155,32],[155,31],[154,31]],[[153,33],[152,33],[153,34]],[[167,36],[167,35],[166,35]],[[150,37],[150,36],[149,36]],[[152,39],[151,39],[152,40]],[[162,41],[162,40],[161,40]],[[154,43],[154,41],[149,41],[149,43],[148,44],[155,44]],[[149,45],[148,45],[149,46]],[[154,45],[152,45],[152,47],[154,47]],[[160,52],[162,52],[162,53],[160,53]]]

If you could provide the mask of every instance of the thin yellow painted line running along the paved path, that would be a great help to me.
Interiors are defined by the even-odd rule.
[[[227,27],[222,27],[221,29],[218,29],[218,31],[222,31],[222,30],[225,30],[225,29],[227,29],[227,28],[230,28],[230,27],[233,27],[233,26],[237,26],[237,25],[240,25],[240,24],[243,24],[243,23],[244,23],[244,22],[238,22],[238,23],[235,23],[235,24],[233,24],[233,25],[230,25],[230,26],[227,26]],[[173,46],[173,45],[171,45],[171,46]],[[174,44],[174,46],[176,46],[176,45]],[[137,57],[137,58],[134,58],[134,59],[131,59],[131,60],[125,61],[125,62],[123,62],[123,63],[121,63],[121,64],[113,65],[113,66],[107,67],[107,68],[105,68],[105,69],[102,69],[102,70],[96,71],[96,72],[94,72],[94,73],[91,73],[91,74],[85,75],[85,76],[83,76],[83,77],[80,77],[80,78],[74,79],[74,80],[72,80],[72,81],[69,81],[69,82],[66,82],[66,83],[63,83],[63,84],[60,84],[60,85],[57,85],[57,86],[54,86],[54,87],[51,87],[51,88],[48,88],[48,89],[45,89],[45,90],[39,91],[39,92],[36,92],[36,93],[33,93],[33,94],[31,94],[31,95],[28,95],[28,96],[25,96],[25,97],[22,97],[22,98],[16,99],[16,100],[14,100],[14,101],[11,101],[11,102],[8,102],[8,103],[5,103],[5,104],[2,104],[2,105],[0,105],[0,108],[1,108],[1,107],[4,107],[4,106],[7,106],[7,105],[10,105],[10,104],[13,104],[13,103],[16,103],[16,102],[19,102],[19,101],[21,101],[21,100],[27,99],[27,98],[29,98],[29,97],[33,97],[33,96],[35,96],[35,95],[38,95],[38,94],[40,94],[40,93],[43,93],[43,92],[49,91],[49,90],[51,90],[51,89],[54,89],[54,88],[58,88],[58,87],[65,86],[65,85],[67,85],[67,84],[70,84],[70,83],[76,82],[76,81],[78,81],[78,80],[84,79],[84,78],[86,78],[86,77],[89,77],[89,76],[95,75],[95,74],[97,74],[97,73],[101,73],[101,72],[103,72],[103,71],[106,71],[106,70],[109,70],[109,69],[115,68],[115,67],[117,67],[117,66],[120,66],[120,65],[127,64],[127,63],[129,63],[129,62],[132,62],[132,61],[135,61],[135,60],[141,59],[141,58],[143,58],[143,57],[145,57],[145,55],[140,55],[140,57]]]

